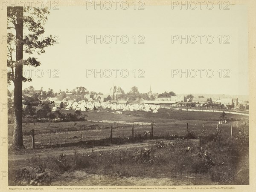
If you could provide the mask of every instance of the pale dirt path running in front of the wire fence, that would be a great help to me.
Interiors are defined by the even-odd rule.
[[[145,146],[153,146],[154,143],[152,143],[152,141],[148,140],[148,142],[145,143],[129,143],[129,144],[124,144],[124,145],[113,145],[113,146],[96,146],[93,148],[73,148],[73,149],[49,149],[49,151],[47,150],[46,152],[38,152],[38,153],[34,153],[34,154],[24,154],[24,155],[9,155],[8,156],[8,160],[13,161],[13,160],[25,160],[25,159],[29,159],[32,157],[37,157],[40,156],[40,158],[44,158],[47,156],[58,156],[61,154],[66,154],[66,155],[71,155],[74,153],[74,151],[78,152],[78,153],[85,153],[85,152],[90,152],[90,151],[108,151],[108,150],[115,150],[115,149],[131,149],[131,148],[141,148],[141,147],[145,147]]]

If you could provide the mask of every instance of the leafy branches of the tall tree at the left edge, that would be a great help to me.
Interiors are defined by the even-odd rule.
[[[47,15],[49,11],[46,8],[24,7],[23,8],[23,40],[17,42],[15,30],[19,23],[17,23],[17,7],[8,7],[7,9],[7,66],[11,69],[8,72],[8,83],[17,80],[18,73],[22,74],[22,71],[15,70],[18,64],[23,66],[40,66],[41,63],[35,57],[27,57],[26,59],[16,60],[15,52],[18,43],[23,45],[23,52],[26,54],[41,54],[45,52],[47,46],[53,45],[55,40],[50,35],[44,39],[40,38],[44,34],[44,24],[47,21]],[[23,82],[31,81],[30,77],[22,77]]]

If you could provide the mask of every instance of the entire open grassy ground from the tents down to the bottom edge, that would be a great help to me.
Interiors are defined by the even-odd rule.
[[[64,112],[74,113],[74,111]],[[135,140],[130,140],[132,132],[131,125],[128,124],[91,121],[23,123],[23,139],[27,149],[9,150],[9,167],[12,168],[10,171],[19,172],[21,169],[30,169],[26,168],[27,166],[44,167],[45,172],[51,175],[51,183],[54,185],[67,185],[67,183],[70,185],[77,183],[79,185],[150,185],[151,182],[155,185],[210,185],[216,183],[244,184],[248,181],[249,148],[246,143],[243,143],[243,138],[236,139],[240,137],[239,131],[242,130],[245,122],[247,123],[245,125],[246,135],[242,137],[247,137],[248,117],[227,114],[227,123],[219,125],[219,130],[221,130],[219,133],[216,132],[216,127],[220,113],[215,112],[160,109],[158,113],[113,114],[107,111],[83,113],[87,115],[87,120],[153,122],[154,137],[152,140],[143,137],[146,131],[151,132],[150,125],[134,125]],[[192,131],[195,135],[194,140],[182,139],[187,134],[186,123],[189,123],[189,132]],[[203,123],[205,136],[202,134]],[[233,138],[230,138],[231,125],[233,126]],[[111,126],[113,126],[113,140],[110,140]],[[37,131],[63,128],[84,130],[52,133]],[[32,129],[35,129],[35,149],[32,149],[32,136],[29,134]],[[9,141],[11,141],[13,131],[11,124],[8,126],[8,131]],[[175,140],[172,135],[181,138]],[[163,139],[165,143],[163,149],[159,149],[156,145],[159,139]],[[237,143],[238,141],[242,143]],[[188,146],[190,148],[187,153]],[[210,159],[214,161],[212,165],[209,164],[208,156],[203,155],[203,159],[198,158],[201,154],[201,147],[212,154],[210,156]],[[143,163],[145,148],[150,149],[152,155],[148,158],[149,160],[152,158],[154,163]],[[62,154],[64,154],[63,157]],[[142,161],[138,161],[138,157],[142,158]],[[56,164],[59,158],[67,158],[67,164]],[[17,162],[19,166],[14,168]],[[72,162],[80,163],[77,165]],[[66,168],[62,170],[63,167]],[[200,167],[205,167],[205,170],[201,170]],[[34,171],[30,170],[30,172]],[[74,175],[74,177],[70,179],[67,175]],[[236,176],[233,178],[233,175]],[[198,180],[198,178],[201,179]],[[244,179],[241,180],[241,178]],[[15,185],[13,179],[10,178],[9,182]]]

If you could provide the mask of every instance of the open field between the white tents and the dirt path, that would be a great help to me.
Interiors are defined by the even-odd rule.
[[[65,111],[73,112],[74,111]],[[202,135],[202,124],[204,123],[205,133],[216,131],[219,113],[214,112],[187,112],[175,111],[171,109],[160,109],[158,113],[151,112],[124,112],[123,114],[113,114],[111,112],[84,112],[88,120],[116,120],[126,122],[154,122],[154,136],[166,137],[170,135],[186,135],[186,123],[189,123],[189,131],[193,131],[198,137]],[[226,136],[230,135],[230,126],[233,126],[233,134],[236,135],[241,130],[241,123],[247,121],[248,117],[241,115],[227,114],[227,123],[219,125],[219,130]],[[101,123],[90,121],[77,122],[53,122],[53,123],[23,123],[24,145],[32,147],[30,131],[35,129],[35,144],[37,147],[51,146],[54,144],[75,143],[86,140],[99,140],[110,137],[110,126],[113,126],[113,138],[131,137],[131,125],[116,123]],[[62,129],[85,129],[77,132],[58,132]],[[41,130],[41,131],[37,131]],[[45,131],[44,131],[45,130]],[[52,130],[57,130],[52,131]],[[13,126],[9,124],[9,143],[12,141]],[[149,125],[134,125],[134,136],[144,135],[146,131],[151,132]],[[248,132],[248,124],[245,126]],[[48,134],[51,132],[51,134]]]

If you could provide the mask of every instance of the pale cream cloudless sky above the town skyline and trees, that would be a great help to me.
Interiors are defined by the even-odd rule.
[[[50,87],[58,92],[59,89],[65,91],[84,86],[89,91],[108,93],[111,86],[116,85],[125,92],[137,86],[144,93],[151,85],[153,93],[248,95],[246,6],[230,6],[230,10],[172,10],[171,6],[144,8],[87,10],[86,7],[59,7],[59,10],[50,10],[45,31],[46,34],[58,35],[58,44],[46,48],[44,54],[34,55],[42,65],[33,69],[43,71],[44,75],[38,78],[35,71],[32,72],[32,82],[23,83],[23,89],[32,85],[35,89],[43,86],[46,90]],[[93,40],[86,43],[86,35],[110,35],[112,41],[109,44],[100,44],[99,40],[96,44]],[[116,44],[113,35],[119,35]],[[121,43],[122,35],[129,37],[127,44]],[[145,43],[134,44],[134,35],[137,35],[137,40],[143,35]],[[172,43],[172,35],[188,35],[191,40],[195,35],[197,43],[186,44],[185,40],[181,44],[179,40]],[[202,44],[198,35],[204,35]],[[206,42],[207,35],[214,37],[212,44]],[[224,35],[227,36],[224,38]],[[230,44],[224,44],[224,40]],[[54,69],[59,72],[58,78],[52,77],[56,73]],[[107,69],[105,75],[109,75],[108,70],[112,75],[110,78],[104,74],[102,78],[100,75],[95,78],[94,74],[86,77],[88,69],[98,72]],[[116,78],[113,69],[119,69]],[[122,69],[129,72],[127,78],[121,76],[126,75],[125,72],[120,74]],[[135,78],[134,69],[137,71]],[[140,69],[143,70],[139,72]],[[193,71],[198,73],[195,78],[186,78],[185,75],[180,78],[179,74],[172,77],[173,69],[178,72],[192,69],[192,76],[195,75]],[[198,69],[204,69],[202,77]],[[214,72],[212,78],[206,76],[208,69]],[[144,72],[144,78],[138,78],[141,72]],[[229,78],[224,78],[227,72]],[[26,77],[28,75],[29,71]]]

